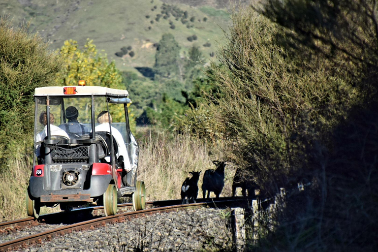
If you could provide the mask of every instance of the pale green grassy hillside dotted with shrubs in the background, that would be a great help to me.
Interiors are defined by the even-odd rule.
[[[93,39],[120,70],[153,66],[154,44],[167,32],[180,44],[182,57],[196,45],[209,59],[221,41],[222,29],[230,25],[225,9],[160,0],[140,0],[137,4],[132,0],[1,0],[0,9],[0,14],[9,15],[14,24],[31,20],[30,30],[39,32],[53,50],[67,39],[77,40],[80,46],[87,38]],[[197,39],[190,42],[187,38],[192,35]],[[133,51],[133,57],[117,57],[115,53],[122,47],[131,47],[128,52]]]

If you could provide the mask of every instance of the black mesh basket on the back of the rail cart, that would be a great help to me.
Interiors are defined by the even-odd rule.
[[[51,158],[54,162],[83,162],[89,158],[88,146],[65,149],[55,147],[51,151]]]

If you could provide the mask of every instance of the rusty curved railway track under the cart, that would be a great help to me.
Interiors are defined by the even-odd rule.
[[[38,220],[26,218],[17,221],[6,221],[0,223],[1,235],[7,235],[13,232],[19,232],[25,227],[35,225],[46,225],[45,231],[38,231],[34,234],[23,235],[16,239],[5,241],[0,244],[0,252],[9,250],[25,249],[33,244],[41,244],[44,241],[52,241],[55,237],[73,231],[83,231],[106,226],[108,223],[125,222],[131,218],[144,217],[156,213],[179,211],[184,209],[199,208],[203,206],[210,207],[248,207],[248,200],[243,198],[221,198],[211,201],[202,201],[193,204],[181,204],[181,200],[165,200],[146,202],[145,210],[129,211],[132,208],[131,203],[119,204],[119,213],[115,216],[104,217],[101,214],[103,207],[92,207],[74,210],[72,212],[59,212],[40,216]],[[64,221],[63,221],[64,220]],[[63,222],[63,223],[62,223]],[[55,225],[60,224],[58,227]],[[63,224],[63,225],[62,225]]]

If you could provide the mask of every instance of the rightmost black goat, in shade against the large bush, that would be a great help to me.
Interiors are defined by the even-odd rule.
[[[238,187],[242,188],[242,194],[244,197],[247,197],[247,191],[249,197],[255,196],[254,190],[258,189],[256,182],[254,181],[251,174],[249,174],[246,170],[242,170],[241,168],[236,169],[235,176],[232,181],[233,197],[236,196],[236,189]]]

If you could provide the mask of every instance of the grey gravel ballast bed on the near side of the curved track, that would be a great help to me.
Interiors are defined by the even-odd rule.
[[[229,210],[200,208],[133,218],[43,241],[22,251],[230,251]]]

